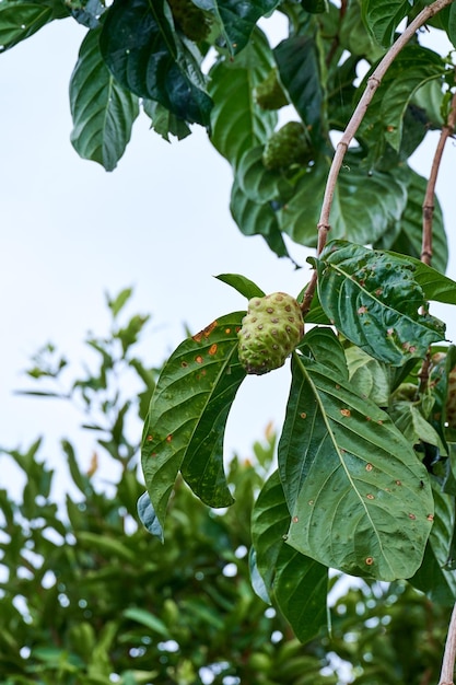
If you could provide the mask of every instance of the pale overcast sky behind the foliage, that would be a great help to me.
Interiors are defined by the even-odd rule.
[[[91,329],[103,335],[104,292],[135,288],[130,313],[152,314],[144,356],[160,364],[183,339],[213,318],[245,307],[244,299],[214,280],[241,272],[267,292],[297,294],[308,280],[304,248],[289,243],[304,265],[278,259],[262,239],[241,235],[229,213],[231,171],[202,129],[172,144],[141,116],[117,170],[106,173],[81,160],[69,136],[69,79],[85,30],[55,22],[0,56],[0,444],[30,444],[46,434],[50,460],[56,440],[77,431],[77,415],[52,402],[17,397],[27,385],[21,370],[47,341],[75,361]],[[428,174],[435,136],[414,158]],[[437,190],[449,234],[456,278],[454,143],[445,151]],[[454,313],[433,312],[452,321]],[[448,313],[449,312],[449,313]],[[229,423],[227,451],[248,455],[269,420],[283,417],[289,374],[280,370],[243,384]],[[90,453],[81,454],[89,465]]]

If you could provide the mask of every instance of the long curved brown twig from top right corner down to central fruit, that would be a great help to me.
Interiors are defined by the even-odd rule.
[[[330,230],[329,224],[329,213],[331,210],[335,188],[337,178],[339,176],[340,169],[342,166],[342,161],[348,150],[350,142],[353,140],[358,128],[363,120],[365,113],[367,111],[369,105],[375,94],[375,91],[382,83],[382,79],[385,76],[388,68],[391,66],[394,60],[400,50],[407,45],[407,43],[414,36],[416,32],[425,24],[432,16],[437,14],[443,8],[452,4],[454,0],[435,0],[432,4],[425,7],[416,19],[407,26],[404,33],[397,38],[396,43],[391,45],[389,50],[386,53],[382,61],[378,63],[377,68],[374,70],[372,76],[367,80],[367,85],[364,90],[363,95],[361,96],[360,102],[350,121],[347,125],[347,128],[340,139],[335,155],[332,158],[332,164],[329,170],[328,179],[326,182],[325,196],[321,205],[321,213],[317,224],[318,229],[318,245],[317,245],[317,255],[319,255],[323,248],[326,245],[327,235]],[[311,309],[311,303],[314,298],[315,288],[317,285],[317,275],[316,271],[313,272],[311,282],[306,289],[303,303],[301,309],[303,311],[303,315],[308,312]]]

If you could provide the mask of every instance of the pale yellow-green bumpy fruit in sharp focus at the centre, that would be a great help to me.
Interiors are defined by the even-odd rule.
[[[279,369],[303,335],[303,316],[294,298],[285,292],[253,298],[237,334],[239,362],[257,375]]]

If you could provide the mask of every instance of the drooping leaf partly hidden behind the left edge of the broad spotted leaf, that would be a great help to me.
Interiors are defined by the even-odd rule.
[[[328,569],[285,544],[290,513],[276,471],[252,514],[256,566],[296,637],[306,642],[327,630]]]

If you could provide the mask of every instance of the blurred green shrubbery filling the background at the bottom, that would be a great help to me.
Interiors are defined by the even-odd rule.
[[[110,474],[109,483],[97,485],[96,461],[82,468],[87,455],[78,455],[68,440],[62,442],[62,458],[71,494],[65,497],[56,492],[40,440],[27,449],[1,452],[2,468],[13,463],[25,481],[17,500],[0,490],[2,685],[109,685],[114,678],[121,685],[330,685],[344,677],[360,685],[418,685],[423,673],[435,681],[448,609],[433,606],[410,585],[362,583],[339,590],[331,638],[305,646],[281,614],[255,594],[249,519],[273,460],[276,437],[270,428],[254,445],[252,458],[231,461],[227,479],[236,507],[212,511],[178,481],[165,544],[138,525],[137,499],[143,485],[135,460],[121,460],[118,469],[116,455],[130,442],[125,423],[119,430],[108,418],[116,403],[105,403],[106,395],[117,395],[119,382],[128,382],[127,360],[149,369],[138,359],[136,335],[118,345],[119,330],[144,318],[118,324],[127,293],[109,301],[113,327],[96,339],[101,356],[91,382],[85,376],[73,383],[82,388],[92,419],[87,425],[84,418],[84,430],[97,436],[97,450],[110,461],[101,474]],[[93,336],[86,342],[93,349]],[[39,352],[30,370],[39,384],[30,393],[38,397],[58,388],[61,374],[71,368],[54,347],[51,351],[51,358]],[[67,396],[56,390],[48,402]],[[73,395],[78,406],[77,399]],[[131,406],[127,413],[137,421],[138,409]],[[94,433],[100,415],[106,425]],[[309,577],[308,584],[302,584],[295,601],[305,601],[312,582]],[[330,584],[337,582],[335,578]],[[426,649],[418,659],[422,643]],[[347,676],[337,674],[335,654],[346,662]]]

